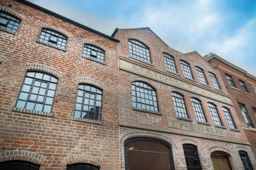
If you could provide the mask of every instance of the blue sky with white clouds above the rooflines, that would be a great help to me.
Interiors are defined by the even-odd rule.
[[[150,27],[171,48],[219,55],[256,76],[255,0],[30,0],[105,34]]]

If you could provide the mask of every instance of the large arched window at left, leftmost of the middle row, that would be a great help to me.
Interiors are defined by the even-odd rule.
[[[57,84],[58,79],[50,74],[27,72],[16,107],[51,113]]]

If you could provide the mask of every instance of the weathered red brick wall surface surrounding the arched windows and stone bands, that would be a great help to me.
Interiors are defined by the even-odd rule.
[[[124,170],[124,142],[131,138],[152,138],[172,147],[176,170],[186,169],[182,144],[197,146],[202,169],[213,169],[213,151],[226,153],[232,169],[243,169],[239,150],[248,153],[252,166],[256,168],[256,159],[245,136],[247,132],[241,127],[242,119],[239,121],[236,115],[236,105],[233,107],[228,102],[212,99],[214,95],[229,98],[225,81],[197,52],[180,53],[168,47],[149,28],[117,29],[114,38],[109,37],[26,2],[1,0],[0,11],[21,20],[16,33],[0,30],[0,164],[8,160],[26,160],[40,165],[40,170],[65,170],[67,165],[74,163],[92,164],[100,167],[100,170]],[[67,36],[66,48],[60,50],[38,42],[42,28]],[[149,47],[151,64],[129,57],[128,39],[139,40]],[[85,43],[105,51],[104,63],[82,57]],[[178,74],[166,71],[163,52],[174,57]],[[186,82],[189,88],[201,88],[213,95],[198,95],[193,90],[184,90],[125,71],[120,67],[121,60],[158,71]],[[184,78],[180,60],[190,64],[194,80]],[[195,66],[204,70],[209,85],[199,83]],[[27,71],[40,71],[58,78],[51,113],[15,108]],[[221,90],[214,89],[208,72],[216,75]],[[133,81],[146,82],[156,89],[161,114],[133,109]],[[103,91],[100,122],[74,117],[79,83],[91,84]],[[170,130],[168,118],[176,120],[172,91],[184,95],[188,116],[195,124],[191,97],[201,100],[211,128],[214,123],[207,102],[216,104],[220,119],[227,127],[218,129],[225,131],[225,137]],[[228,127],[222,106],[230,110],[237,131]]]

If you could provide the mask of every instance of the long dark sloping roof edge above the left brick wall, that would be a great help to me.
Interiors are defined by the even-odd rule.
[[[88,30],[88,31],[90,31],[90,32],[93,32],[93,33],[95,33],[95,34],[98,34],[99,36],[102,36],[102,37],[104,37],[104,38],[106,38],[106,39],[109,39],[109,40],[112,40],[112,41],[115,41],[115,42],[120,42],[119,39],[115,39],[115,38],[113,38],[113,37],[111,37],[111,36],[109,36],[109,35],[107,35],[107,34],[104,34],[104,33],[102,33],[102,32],[99,32],[99,31],[97,31],[97,30],[94,30],[94,29],[92,29],[92,28],[90,28],[90,27],[88,27],[88,26],[86,26],[86,25],[80,24],[80,23],[78,23],[78,22],[76,22],[76,21],[74,21],[74,20],[72,20],[72,19],[69,19],[69,18],[67,18],[67,17],[64,17],[64,16],[62,16],[62,15],[60,15],[60,14],[57,14],[57,13],[55,13],[55,12],[53,12],[53,11],[50,11],[50,10],[44,8],[44,7],[41,7],[41,6],[36,5],[36,4],[34,4],[34,3],[31,3],[31,2],[29,2],[29,1],[27,1],[27,0],[16,0],[16,1],[18,1],[18,2],[20,2],[20,3],[22,3],[22,4],[26,4],[26,5],[29,5],[29,6],[31,6],[31,7],[34,7],[34,8],[36,8],[36,9],[40,10],[40,11],[44,11],[45,13],[54,15],[54,16],[60,18],[60,19],[63,19],[63,20],[65,20],[65,21],[71,23],[71,24],[74,24],[74,25],[79,26],[79,27],[81,27],[81,28],[83,28],[83,29],[85,29],[85,30]]]

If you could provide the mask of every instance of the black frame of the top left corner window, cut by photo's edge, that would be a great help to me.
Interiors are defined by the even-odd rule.
[[[4,14],[5,16],[3,16],[2,14]],[[8,18],[7,16],[9,16],[10,18]],[[21,20],[7,12],[3,12],[3,11],[0,11],[0,19],[1,18],[4,18],[6,21],[6,24],[1,24],[0,23],[0,28],[2,29],[6,29],[6,30],[9,30],[9,31],[12,31],[14,33],[17,32],[19,26],[20,26],[20,23],[21,23]],[[13,22],[13,24],[11,24],[11,22]],[[15,25],[15,24],[18,24],[18,25]],[[12,25],[12,28],[8,27],[8,25]],[[16,26],[17,29],[13,29],[13,27]]]

